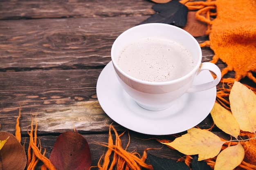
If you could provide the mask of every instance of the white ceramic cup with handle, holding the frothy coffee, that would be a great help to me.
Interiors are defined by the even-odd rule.
[[[193,56],[193,70],[183,77],[167,82],[147,82],[126,74],[117,64],[121,51],[135,40],[150,37],[167,38],[184,46]],[[218,66],[211,62],[202,62],[202,50],[197,40],[183,29],[170,24],[141,24],[124,31],[112,45],[111,59],[121,86],[139,106],[148,110],[164,110],[184,93],[208,90],[215,87],[221,79]],[[192,85],[194,77],[202,70],[212,71],[216,78],[211,82]]]

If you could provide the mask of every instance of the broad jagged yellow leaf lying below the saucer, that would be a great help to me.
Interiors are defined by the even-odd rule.
[[[213,158],[221,150],[224,141],[208,130],[191,128],[188,133],[177,137],[173,142],[162,143],[171,146],[185,155],[197,155],[198,161]]]

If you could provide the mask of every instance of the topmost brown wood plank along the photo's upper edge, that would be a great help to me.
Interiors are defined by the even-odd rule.
[[[151,15],[153,4],[147,0],[1,0],[0,19]]]

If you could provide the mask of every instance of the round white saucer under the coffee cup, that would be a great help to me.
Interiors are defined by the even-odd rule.
[[[212,79],[209,71],[202,71],[193,84]],[[165,110],[146,110],[123,90],[112,62],[103,68],[96,90],[99,104],[111,119],[125,128],[148,135],[171,135],[193,128],[209,115],[216,100],[214,87],[207,91],[185,93]]]

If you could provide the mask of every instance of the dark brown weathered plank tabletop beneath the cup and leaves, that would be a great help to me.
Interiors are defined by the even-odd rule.
[[[37,115],[38,136],[47,150],[46,157],[58,135],[75,127],[89,142],[92,166],[97,165],[106,148],[93,141],[107,142],[113,122],[97,100],[97,79],[111,60],[114,40],[155,13],[153,4],[149,0],[2,0],[0,130],[15,133],[21,106],[22,142],[29,141],[27,127],[31,115]],[[196,39],[204,42],[207,36]],[[202,52],[203,61],[210,61],[213,51],[203,48]],[[219,62],[218,66],[223,68],[224,64]],[[209,128],[212,123],[209,115],[198,126]],[[113,126],[119,133],[126,130],[115,122]],[[162,147],[148,153],[174,159],[182,156],[154,139],[141,140],[172,136],[129,132],[130,151],[136,149],[141,154],[145,148]],[[121,139],[126,145],[128,135]]]

